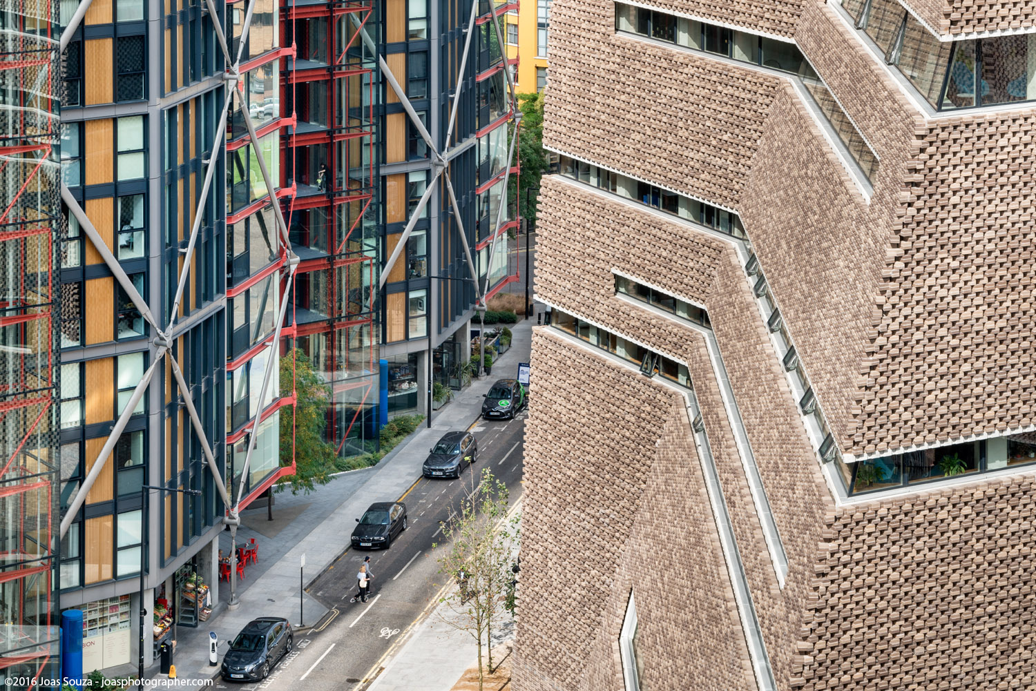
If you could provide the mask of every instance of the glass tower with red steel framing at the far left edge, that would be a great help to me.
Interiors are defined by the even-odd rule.
[[[0,680],[16,687],[58,664],[57,29],[57,2],[0,1]]]

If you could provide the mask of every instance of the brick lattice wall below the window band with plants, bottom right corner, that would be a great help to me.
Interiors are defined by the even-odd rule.
[[[1031,474],[832,512],[801,688],[1036,688],[1034,520]]]

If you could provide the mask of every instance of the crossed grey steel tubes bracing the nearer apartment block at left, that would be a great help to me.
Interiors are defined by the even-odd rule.
[[[90,2],[91,0],[84,0],[82,3],[80,3],[68,26],[62,32],[61,34],[62,50],[67,46],[73,34],[75,34],[77,28],[79,27],[79,24],[82,22],[83,17],[86,15],[86,10],[90,6]],[[251,29],[252,26],[252,16],[253,16],[253,10],[255,9],[255,3],[256,0],[250,0],[249,2],[248,10],[246,11],[244,15],[244,22],[241,27],[241,36],[240,36],[240,41],[238,44],[237,56],[233,59],[231,58],[230,51],[227,48],[227,41],[223,33],[223,27],[220,24],[220,19],[214,11],[215,6],[212,0],[206,0],[205,3],[206,6],[208,7],[208,17],[212,21],[213,30],[215,31],[215,35],[219,39],[220,50],[223,52],[223,56],[226,59],[227,64],[232,65],[227,68],[226,74],[224,76],[224,79],[226,81],[227,96],[224,99],[223,110],[220,113],[220,124],[215,128],[215,141],[212,142],[212,146],[209,149],[210,151],[213,152],[220,151],[221,146],[225,145],[226,143],[227,118],[230,112],[230,106],[233,103],[233,98],[235,95],[239,100],[241,111],[243,113],[248,113],[248,104],[244,100],[243,94],[241,94],[240,92],[239,68],[240,68],[241,57],[244,53],[244,48],[248,45],[247,39],[249,30]],[[255,126],[253,125],[251,118],[246,116],[242,119],[244,120],[246,126],[248,127],[249,140],[251,141],[252,145],[256,147],[256,150],[259,150],[260,149],[259,140],[256,137]],[[140,402],[140,399],[144,396],[144,392],[150,384],[151,379],[154,376],[154,373],[157,371],[159,365],[162,363],[162,359],[165,356],[167,356],[170,352],[170,348],[172,347],[172,340],[169,334],[172,333],[173,326],[175,325],[176,313],[177,310],[179,309],[180,300],[183,297],[183,289],[186,286],[188,276],[191,270],[191,261],[194,257],[195,243],[198,239],[198,231],[201,229],[201,224],[205,211],[206,201],[208,199],[208,194],[211,191],[212,177],[215,173],[215,165],[218,159],[219,156],[215,153],[213,153],[208,161],[204,162],[206,166],[205,180],[202,184],[201,196],[199,197],[199,200],[197,202],[194,223],[192,224],[191,227],[191,237],[190,240],[188,241],[188,247],[185,250],[185,254],[183,256],[183,267],[182,269],[180,269],[179,281],[176,287],[176,296],[173,300],[172,309],[170,310],[169,323],[166,325],[165,329],[163,329],[159,325],[159,322],[155,319],[151,310],[148,308],[147,303],[134,287],[133,282],[130,280],[130,277],[126,276],[125,270],[118,263],[118,260],[115,259],[115,256],[112,254],[111,250],[105,243],[104,239],[100,237],[100,234],[97,232],[96,228],[94,228],[93,224],[87,218],[86,213],[83,211],[83,208],[80,206],[79,202],[77,202],[76,198],[73,197],[71,193],[69,192],[65,183],[63,181],[61,183],[62,200],[68,206],[68,209],[73,213],[73,215],[76,217],[76,220],[79,221],[79,224],[83,228],[83,231],[86,233],[86,236],[90,239],[90,242],[100,254],[100,257],[104,259],[105,264],[107,264],[108,268],[112,271],[112,276],[114,276],[115,279],[119,282],[119,285],[126,292],[131,301],[140,311],[141,316],[147,321],[147,323],[151,326],[151,328],[154,329],[154,333],[156,335],[152,341],[156,347],[154,359],[151,363],[151,366],[148,367],[147,371],[144,373],[144,376],[141,378],[140,383],[138,383],[137,387],[134,390],[133,395],[130,398],[130,402],[126,403],[121,414],[119,415],[119,419],[116,421],[115,426],[112,428],[112,432],[109,435],[107,441],[105,442],[104,448],[97,455],[97,460],[90,468],[90,471],[87,473],[86,478],[83,479],[83,484],[79,488],[79,491],[76,492],[76,496],[73,497],[71,502],[68,505],[67,512],[61,519],[61,538],[64,538],[65,534],[68,531],[69,526],[71,525],[74,519],[76,518],[76,514],[79,513],[79,510],[82,508],[83,502],[86,500],[87,493],[90,491],[90,488],[93,486],[93,483],[96,481],[97,477],[100,474],[100,471],[104,469],[105,464],[108,462],[112,450],[115,448],[115,443],[118,441],[119,436],[122,434],[122,431],[125,429],[126,424],[130,422],[130,416],[133,414],[134,408],[137,407],[137,404]],[[280,229],[280,234],[281,234],[281,244],[288,259],[288,261],[286,262],[287,277],[286,277],[284,293],[281,298],[281,308],[278,314],[277,327],[274,332],[274,338],[269,346],[270,352],[274,353],[277,352],[278,344],[280,343],[281,330],[284,325],[284,317],[285,313],[287,312],[288,298],[289,295],[291,294],[291,287],[295,276],[295,269],[298,266],[298,257],[292,250],[291,240],[289,239],[288,236],[288,227],[284,221],[284,213],[281,210],[281,204],[279,203],[277,196],[275,194],[277,188],[275,188],[274,181],[270,179],[269,170],[266,166],[266,161],[263,156],[260,155],[258,156],[258,162],[259,162],[259,169],[262,172],[263,181],[266,184],[266,190],[269,191],[269,203],[274,206],[274,211],[277,217],[277,225],[278,228]],[[188,383],[183,378],[183,373],[180,371],[176,358],[169,357],[169,363],[172,369],[173,378],[176,380],[176,385],[180,390],[180,393],[183,396],[183,403],[188,409],[192,427],[194,428],[195,434],[197,434],[198,439],[201,442],[202,451],[205,455],[205,461],[208,465],[209,471],[212,473],[212,479],[214,481],[217,489],[220,492],[220,497],[223,499],[224,505],[228,508],[227,516],[224,517],[224,522],[230,525],[231,573],[234,573],[234,571],[236,570],[236,565],[233,564],[233,562],[235,562],[237,558],[236,554],[237,550],[235,549],[236,545],[234,543],[236,542],[237,526],[240,525],[240,517],[238,516],[239,512],[238,507],[240,502],[240,497],[244,491],[246,480],[249,477],[249,465],[252,461],[252,454],[255,451],[256,436],[259,429],[259,419],[263,412],[263,406],[259,405],[257,407],[258,409],[256,410],[256,413],[252,418],[252,422],[250,423],[251,433],[249,434],[248,452],[246,453],[244,463],[243,466],[241,467],[241,482],[237,488],[237,493],[234,496],[234,499],[231,499],[230,493],[228,492],[228,485],[229,483],[232,482],[232,478],[227,478],[226,480],[224,480],[223,473],[220,471],[220,467],[215,462],[215,457],[212,454],[212,445],[208,440],[205,429],[201,423],[201,419],[198,416],[198,410],[195,407],[193,399],[191,398],[190,386],[188,386]],[[274,368],[276,367],[279,367],[278,358],[267,357],[265,371],[263,373],[262,386],[259,392],[260,403],[266,397],[266,390],[269,387],[269,381],[271,379],[270,375],[272,373]],[[237,603],[235,580],[236,579],[234,578],[230,579],[231,605]]]

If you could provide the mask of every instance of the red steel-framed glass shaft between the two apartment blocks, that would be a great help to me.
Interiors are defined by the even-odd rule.
[[[377,31],[371,0],[287,1],[282,45],[282,175],[300,258],[284,348],[330,387],[326,441],[340,456],[376,451],[378,214]]]

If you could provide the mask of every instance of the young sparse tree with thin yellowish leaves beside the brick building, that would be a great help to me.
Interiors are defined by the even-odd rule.
[[[492,672],[493,622],[505,609],[512,551],[518,539],[517,518],[508,520],[507,514],[507,485],[489,468],[483,468],[478,486],[470,496],[461,499],[460,511],[442,524],[445,542],[438,557],[439,572],[460,585],[442,599],[454,614],[445,621],[468,632],[479,643],[480,691],[484,679],[483,640],[489,652],[486,669]]]

